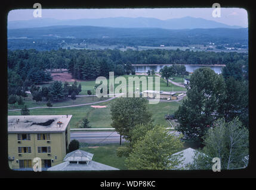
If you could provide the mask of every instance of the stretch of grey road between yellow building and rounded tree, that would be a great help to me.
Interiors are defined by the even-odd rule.
[[[104,132],[70,132],[70,140],[78,140],[81,143],[90,144],[106,144],[106,143],[119,143],[120,135],[116,131]],[[122,143],[125,140],[122,138]]]

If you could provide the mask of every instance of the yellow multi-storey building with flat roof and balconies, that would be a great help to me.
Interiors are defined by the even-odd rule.
[[[70,143],[72,115],[8,116],[8,160],[11,169],[32,169],[39,157],[42,169],[63,161]]]

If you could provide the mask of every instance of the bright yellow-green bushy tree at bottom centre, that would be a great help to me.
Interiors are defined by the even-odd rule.
[[[169,134],[164,126],[156,125],[135,143],[125,164],[132,170],[175,169],[182,161],[180,154],[173,155],[183,148],[180,138]]]

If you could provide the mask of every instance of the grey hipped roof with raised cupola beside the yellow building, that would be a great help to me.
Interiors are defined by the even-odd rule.
[[[63,163],[50,167],[47,171],[119,170],[115,167],[92,161],[93,155],[79,149],[72,151],[64,157]]]

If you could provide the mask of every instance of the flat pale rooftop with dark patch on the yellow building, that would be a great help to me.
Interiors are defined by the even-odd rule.
[[[8,133],[63,132],[72,115],[18,115],[8,116]]]

